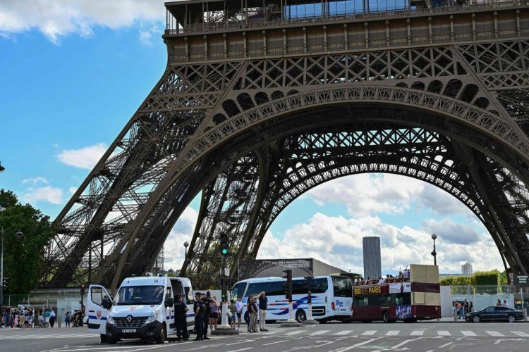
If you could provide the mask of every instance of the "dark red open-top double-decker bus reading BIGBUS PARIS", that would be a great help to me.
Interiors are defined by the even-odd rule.
[[[384,279],[383,284],[356,281],[352,320],[415,322],[441,318],[437,265],[411,264],[406,270],[403,276]]]

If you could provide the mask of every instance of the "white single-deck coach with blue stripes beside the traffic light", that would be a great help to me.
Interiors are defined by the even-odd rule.
[[[351,320],[351,304],[353,303],[353,287],[350,277],[338,275],[316,276],[312,279],[310,297],[312,298],[312,318],[320,322],[329,320]],[[231,298],[243,298],[243,316],[249,296],[258,296],[265,291],[268,297],[267,320],[288,319],[288,299],[286,279],[281,277],[255,277],[245,279],[233,285]],[[296,320],[303,321],[308,316],[307,279],[292,279],[293,315]]]

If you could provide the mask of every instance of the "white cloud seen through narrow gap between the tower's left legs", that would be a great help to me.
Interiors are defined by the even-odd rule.
[[[182,268],[185,249],[183,243],[185,241],[188,241],[189,243],[191,242],[197,218],[197,210],[189,206],[186,210],[183,210],[182,215],[178,218],[178,221],[164,243],[165,270],[171,268],[173,270],[179,270]],[[188,249],[190,249],[190,247],[188,247]]]

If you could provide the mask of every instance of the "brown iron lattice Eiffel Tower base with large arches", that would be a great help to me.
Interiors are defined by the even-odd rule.
[[[166,71],[56,219],[48,285],[150,270],[200,191],[183,269],[217,276],[226,232],[236,275],[291,201],[360,172],[444,189],[508,272],[528,272],[528,5],[260,18],[246,4],[166,4]]]

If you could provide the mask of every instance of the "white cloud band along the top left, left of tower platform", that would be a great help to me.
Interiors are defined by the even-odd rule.
[[[116,29],[136,22],[164,21],[164,0],[3,0],[0,36],[37,28],[51,42],[79,34],[90,37],[94,27]]]

